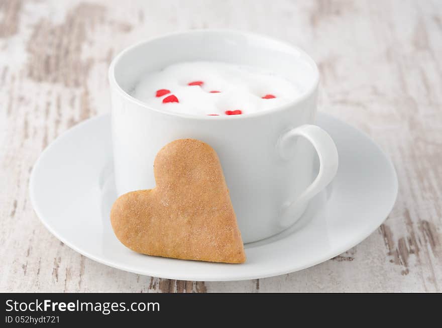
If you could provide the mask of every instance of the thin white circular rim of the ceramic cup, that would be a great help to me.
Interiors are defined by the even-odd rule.
[[[304,91],[302,92],[302,94],[297,97],[296,99],[285,103],[283,105],[279,105],[276,107],[272,107],[269,108],[267,110],[263,110],[263,111],[259,111],[256,113],[250,113],[250,114],[246,114],[246,115],[226,115],[226,116],[209,116],[209,115],[197,115],[197,114],[187,114],[187,113],[177,113],[177,112],[169,112],[169,111],[164,111],[164,110],[160,110],[158,108],[149,106],[148,104],[146,104],[145,102],[131,96],[128,92],[126,92],[125,90],[123,90],[123,88],[120,86],[120,84],[117,82],[117,79],[115,78],[115,66],[117,65],[117,63],[121,60],[121,58],[123,58],[123,56],[132,51],[133,49],[155,41],[155,40],[159,40],[159,39],[165,39],[171,36],[179,36],[179,35],[185,35],[185,34],[199,34],[199,33],[227,33],[227,34],[238,34],[238,35],[243,35],[245,37],[248,38],[261,38],[261,39],[265,39],[268,41],[272,41],[274,43],[279,43],[281,46],[285,46],[285,47],[289,47],[292,48],[293,50],[296,50],[298,53],[301,54],[301,56],[310,64],[311,68],[313,69],[313,74],[314,74],[314,78],[313,78],[313,83],[310,84],[310,86]],[[118,93],[120,93],[120,95],[122,95],[124,98],[126,98],[127,100],[134,102],[142,107],[147,108],[148,110],[160,113],[160,114],[164,114],[164,115],[168,115],[168,116],[172,116],[172,117],[180,117],[180,118],[185,118],[185,119],[192,119],[192,120],[247,120],[247,119],[252,119],[252,118],[256,118],[256,117],[260,117],[260,116],[266,116],[275,112],[281,112],[286,110],[288,107],[293,107],[299,103],[301,103],[302,101],[304,101],[306,98],[310,97],[315,90],[317,89],[317,86],[319,84],[319,70],[318,67],[315,63],[315,61],[301,48],[286,42],[286,41],[282,41],[279,39],[275,39],[266,35],[261,35],[258,33],[252,33],[252,32],[245,32],[245,31],[238,31],[238,30],[231,30],[231,29],[195,29],[195,30],[186,30],[186,31],[177,31],[177,32],[170,32],[170,33],[165,33],[165,34],[161,34],[160,36],[155,36],[152,38],[148,38],[146,40],[142,40],[140,42],[137,42],[129,47],[126,47],[125,49],[123,49],[116,57],[114,57],[114,59],[111,62],[111,65],[109,66],[108,69],[108,79],[109,79],[109,84],[111,84],[111,87],[114,87]]]

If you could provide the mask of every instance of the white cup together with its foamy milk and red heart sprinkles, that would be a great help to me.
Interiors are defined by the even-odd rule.
[[[219,157],[243,242],[283,231],[338,168],[333,140],[314,125],[318,81],[302,50],[245,32],[179,32],[129,47],[109,68],[118,195],[154,188],[160,149],[197,139]]]

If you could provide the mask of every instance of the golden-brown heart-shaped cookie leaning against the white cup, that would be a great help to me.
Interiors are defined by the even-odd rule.
[[[120,196],[111,210],[117,238],[138,253],[243,263],[241,233],[216,152],[194,139],[164,146],[156,187]]]

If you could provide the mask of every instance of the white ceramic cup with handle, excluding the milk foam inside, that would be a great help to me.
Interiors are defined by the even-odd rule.
[[[236,116],[166,112],[129,94],[143,74],[193,60],[263,67],[293,77],[303,93],[284,106]],[[109,68],[118,194],[155,187],[157,152],[176,139],[198,139],[219,156],[243,241],[283,231],[338,169],[333,140],[313,125],[318,80],[316,64],[302,50],[244,32],[179,32],[127,48]],[[315,152],[319,173],[313,177]]]

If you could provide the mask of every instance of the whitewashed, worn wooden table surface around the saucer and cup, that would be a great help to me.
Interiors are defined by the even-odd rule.
[[[399,195],[348,252],[300,272],[238,282],[141,276],[96,263],[40,223],[28,194],[41,151],[109,111],[107,68],[128,45],[186,29],[253,31],[319,64],[320,110],[392,158]],[[0,291],[442,290],[442,2],[0,0]]]

